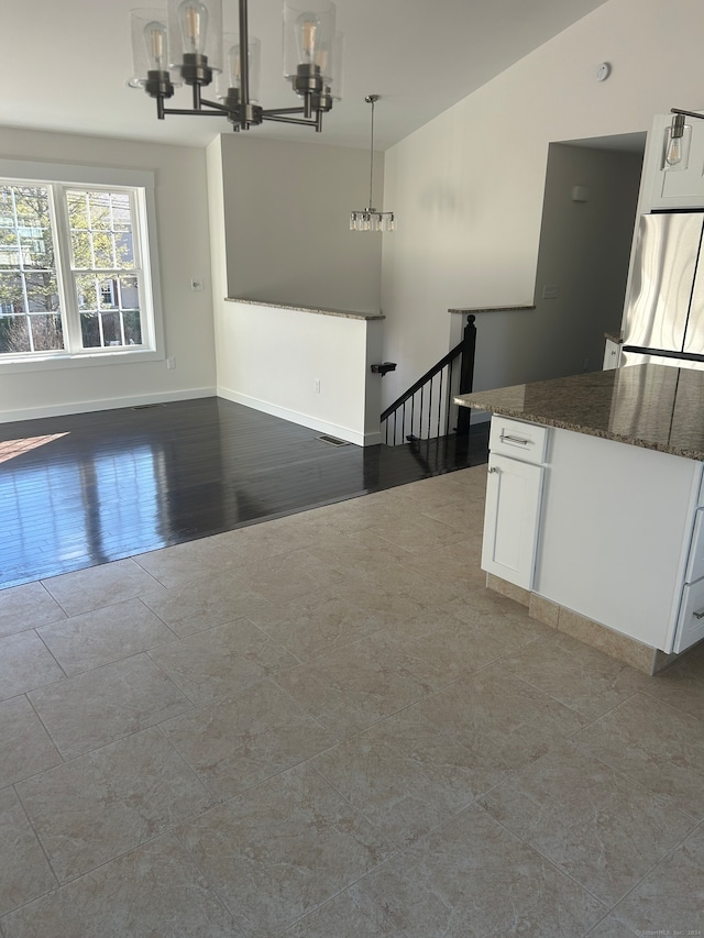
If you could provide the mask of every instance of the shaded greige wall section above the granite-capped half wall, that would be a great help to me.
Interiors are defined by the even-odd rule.
[[[220,146],[228,296],[378,312],[381,234],[350,231],[350,211],[369,199],[369,150],[255,132]],[[382,154],[375,178],[381,188]]]

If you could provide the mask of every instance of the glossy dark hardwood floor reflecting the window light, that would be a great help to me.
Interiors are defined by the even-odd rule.
[[[0,424],[0,588],[476,465],[486,427],[337,448],[217,397]]]

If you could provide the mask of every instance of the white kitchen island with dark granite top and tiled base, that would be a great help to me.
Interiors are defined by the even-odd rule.
[[[493,413],[491,586],[650,673],[704,638],[704,373],[637,365],[455,402]]]

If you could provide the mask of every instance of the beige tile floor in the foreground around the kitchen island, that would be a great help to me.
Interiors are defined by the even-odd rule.
[[[485,467],[0,593],[4,938],[704,928],[704,650],[480,571]]]

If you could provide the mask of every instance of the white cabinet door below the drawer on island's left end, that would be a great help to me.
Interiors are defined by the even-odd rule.
[[[482,570],[532,588],[542,466],[492,453],[488,461]]]

